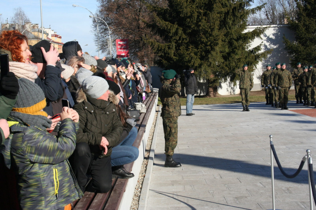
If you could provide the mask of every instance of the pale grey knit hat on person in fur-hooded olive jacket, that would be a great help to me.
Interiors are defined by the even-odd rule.
[[[90,97],[99,98],[109,89],[109,85],[102,77],[89,76],[83,80],[82,88]]]

